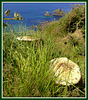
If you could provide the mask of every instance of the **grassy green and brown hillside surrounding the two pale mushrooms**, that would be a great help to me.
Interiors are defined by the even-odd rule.
[[[81,9],[81,10],[80,10]],[[27,32],[3,34],[3,97],[85,97],[85,7],[76,5],[59,21],[35,32],[37,42],[22,42]],[[26,33],[26,34],[25,34]],[[50,60],[67,57],[80,67],[76,85],[55,84]]]

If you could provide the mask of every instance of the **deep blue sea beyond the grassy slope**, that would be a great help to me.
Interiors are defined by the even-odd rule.
[[[30,28],[32,25],[38,25],[39,22],[59,20],[59,16],[46,17],[44,14],[48,11],[51,15],[54,10],[61,9],[65,12],[71,10],[71,5],[84,4],[84,3],[3,3],[3,17],[5,17],[5,11],[10,10],[10,15],[14,17],[14,11],[20,13],[23,20],[4,20],[5,23],[10,24],[11,27],[18,28],[20,25]],[[7,18],[10,18],[7,17]]]

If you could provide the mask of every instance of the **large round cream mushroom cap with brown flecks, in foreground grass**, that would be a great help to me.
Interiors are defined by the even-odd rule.
[[[71,85],[77,84],[81,79],[79,66],[66,57],[55,58],[50,61],[51,69],[54,72],[56,84]]]

